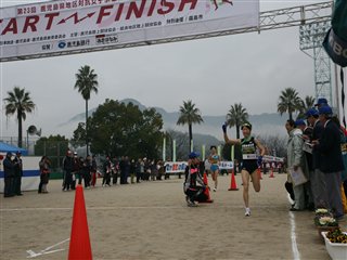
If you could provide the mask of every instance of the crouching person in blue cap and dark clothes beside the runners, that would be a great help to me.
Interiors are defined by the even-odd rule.
[[[200,172],[200,160],[197,157],[197,153],[190,153],[188,166],[185,167],[184,194],[187,195],[185,200],[189,207],[196,206],[195,202],[201,203],[208,198],[205,194],[207,187]]]

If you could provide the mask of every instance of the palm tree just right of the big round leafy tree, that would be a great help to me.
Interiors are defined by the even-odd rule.
[[[192,151],[192,125],[203,122],[203,118],[201,116],[200,109],[195,107],[195,104],[192,103],[191,100],[183,101],[183,106],[180,106],[180,116],[177,120],[177,125],[188,125],[189,129],[189,143],[190,143],[190,152]]]

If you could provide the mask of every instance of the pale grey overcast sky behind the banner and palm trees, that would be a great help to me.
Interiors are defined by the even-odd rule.
[[[0,0],[1,6],[38,2]],[[268,11],[323,1],[260,0]],[[89,107],[105,99],[136,99],[145,106],[176,112],[192,100],[202,115],[226,115],[234,103],[248,114],[275,113],[281,90],[295,88],[314,96],[313,60],[299,50],[299,28],[243,34],[203,40],[0,63],[1,136],[16,136],[15,118],[4,116],[3,99],[14,86],[25,88],[37,109],[23,129],[36,125],[44,135],[60,133],[57,125],[85,112],[74,90],[75,74],[90,65],[99,93]],[[72,132],[62,132],[70,136]],[[25,132],[24,132],[25,135]]]

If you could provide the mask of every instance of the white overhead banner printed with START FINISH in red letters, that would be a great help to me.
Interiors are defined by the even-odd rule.
[[[258,26],[259,0],[39,2],[0,9],[0,61]]]

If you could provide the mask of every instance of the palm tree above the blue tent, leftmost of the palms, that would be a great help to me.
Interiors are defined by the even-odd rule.
[[[20,87],[14,87],[12,92],[8,92],[8,98],[3,99],[7,103],[5,115],[16,114],[18,120],[18,147],[22,147],[22,120],[26,119],[26,113],[31,113],[35,109],[35,104],[31,101],[30,93]]]

